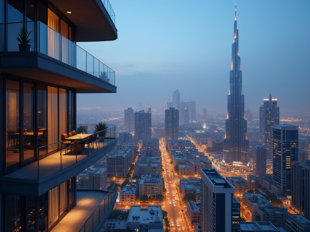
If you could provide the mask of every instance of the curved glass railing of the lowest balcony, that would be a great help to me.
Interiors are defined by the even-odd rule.
[[[77,176],[77,189],[82,190],[102,190],[107,193],[94,212],[88,217],[79,232],[94,231],[101,219],[112,205],[114,207],[114,197],[116,193],[115,181],[103,176]]]

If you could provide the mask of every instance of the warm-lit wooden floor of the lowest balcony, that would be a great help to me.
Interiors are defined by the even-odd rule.
[[[107,194],[99,191],[77,191],[77,205],[51,230],[51,232],[79,232],[87,218]]]

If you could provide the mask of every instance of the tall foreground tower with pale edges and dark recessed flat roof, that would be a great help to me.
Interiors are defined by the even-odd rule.
[[[201,169],[201,229],[232,231],[232,197],[235,188],[214,169]]]

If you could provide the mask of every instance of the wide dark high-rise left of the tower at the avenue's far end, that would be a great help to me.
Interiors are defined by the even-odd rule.
[[[152,114],[139,110],[135,112],[135,140],[150,139],[152,133]]]

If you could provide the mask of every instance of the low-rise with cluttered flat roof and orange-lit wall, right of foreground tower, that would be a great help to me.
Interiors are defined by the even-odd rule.
[[[250,212],[257,211],[258,207],[273,207],[273,205],[259,193],[243,194],[242,204],[244,204]]]

